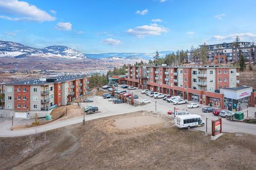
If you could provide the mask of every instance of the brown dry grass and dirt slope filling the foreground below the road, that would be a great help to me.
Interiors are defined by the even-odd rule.
[[[41,133],[0,138],[0,145],[0,169],[256,168],[255,136],[225,133],[211,141],[142,111],[49,131],[46,141]]]

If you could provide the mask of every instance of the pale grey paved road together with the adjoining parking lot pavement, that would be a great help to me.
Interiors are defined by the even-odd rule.
[[[119,87],[120,88],[120,87]],[[215,120],[218,118],[218,116],[213,115],[212,113],[203,113],[201,111],[201,107],[199,108],[194,108],[194,109],[189,109],[187,108],[187,105],[173,105],[172,103],[167,103],[163,101],[162,99],[154,99],[150,98],[149,96],[145,94],[140,94],[141,90],[130,90],[130,92],[134,92],[135,94],[139,95],[139,100],[142,99],[150,99],[152,102],[150,104],[146,104],[144,106],[138,106],[134,107],[128,104],[113,104],[112,102],[109,102],[106,99],[103,99],[100,96],[94,96],[93,103],[90,103],[92,105],[98,106],[100,113],[95,113],[91,115],[86,116],[86,121],[96,119],[96,118],[101,118],[101,117],[106,117],[106,116],[112,116],[112,115],[118,115],[118,114],[124,114],[124,113],[129,113],[129,112],[134,112],[134,111],[140,111],[140,110],[148,110],[148,111],[155,111],[155,101],[157,101],[157,111],[162,113],[162,114],[167,114],[168,110],[173,109],[174,107],[179,108],[179,109],[184,109],[189,111],[191,114],[199,114],[202,116],[202,119],[206,121],[206,117],[208,118],[208,128],[207,131],[210,133],[211,132],[211,127],[210,127],[210,122],[211,120]],[[82,106],[89,105],[87,103],[82,103]],[[202,105],[203,107],[204,105]],[[256,110],[255,110],[256,111]],[[252,124],[245,124],[245,123],[234,123],[234,122],[228,122],[224,118],[222,118],[222,128],[223,132],[241,132],[241,133],[248,133],[248,134],[253,134],[256,135],[256,125]],[[11,136],[24,136],[24,135],[29,135],[29,134],[34,134],[34,133],[39,133],[39,132],[45,132],[48,130],[68,126],[68,125],[73,125],[77,123],[82,123],[82,117],[77,117],[77,118],[71,118],[67,120],[61,120],[58,122],[53,122],[47,125],[42,125],[39,127],[34,127],[26,130],[9,130],[11,122],[10,119],[0,119],[0,124],[2,125],[0,127],[0,137],[11,137]],[[206,131],[206,126],[204,127],[198,127],[195,128],[198,130]]]

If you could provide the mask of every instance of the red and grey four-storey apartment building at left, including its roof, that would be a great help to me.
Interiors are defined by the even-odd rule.
[[[84,76],[58,76],[5,83],[2,85],[4,102],[0,113],[4,117],[39,117],[54,108],[82,98],[89,89]]]

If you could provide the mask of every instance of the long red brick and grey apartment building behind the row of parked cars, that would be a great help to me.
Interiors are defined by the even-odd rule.
[[[239,67],[142,65],[128,66],[126,70],[127,77],[119,78],[119,83],[125,81],[140,89],[180,95],[200,104],[213,103],[222,109],[224,94],[219,89],[235,88],[239,84]]]

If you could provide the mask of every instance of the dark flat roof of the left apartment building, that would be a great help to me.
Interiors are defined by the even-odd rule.
[[[67,81],[73,81],[76,79],[82,79],[86,78],[86,76],[56,76],[56,77],[50,77],[50,78],[44,78],[44,79],[30,79],[30,80],[23,80],[23,81],[16,81],[16,82],[9,82],[9,83],[3,83],[3,85],[30,85],[30,86],[41,86],[41,85],[49,85],[54,83],[62,83]],[[56,81],[47,82],[47,79],[56,79]]]

